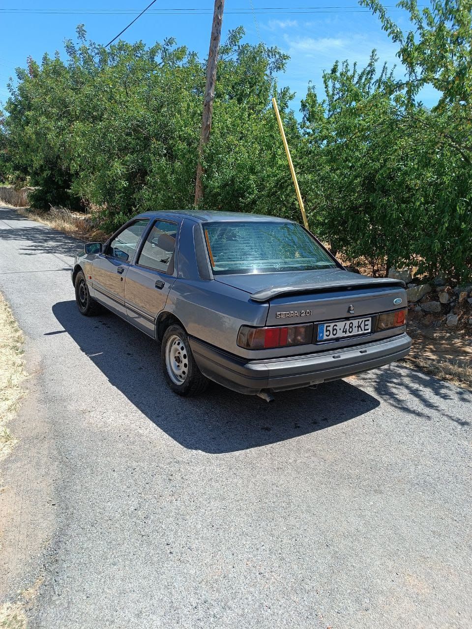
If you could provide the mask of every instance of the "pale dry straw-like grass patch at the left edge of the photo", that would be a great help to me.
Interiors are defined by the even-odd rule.
[[[20,408],[25,377],[23,333],[0,294],[0,459],[16,443],[7,426]]]

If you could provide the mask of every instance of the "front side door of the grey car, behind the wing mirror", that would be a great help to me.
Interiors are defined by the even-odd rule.
[[[125,277],[148,225],[147,218],[126,225],[93,262],[92,281],[97,301],[121,316],[126,316]]]

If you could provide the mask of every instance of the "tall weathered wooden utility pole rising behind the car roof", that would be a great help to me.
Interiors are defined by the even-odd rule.
[[[215,100],[216,63],[218,62],[224,8],[225,0],[215,0],[215,12],[213,13],[213,25],[211,26],[210,50],[208,52],[208,63],[206,65],[205,98],[203,99],[203,116],[201,117],[201,134],[195,183],[195,205],[198,205],[198,202],[203,197],[203,188],[201,186],[203,167],[201,165],[201,159],[203,149],[208,143],[208,140],[210,140],[211,116],[213,115],[213,101]]]

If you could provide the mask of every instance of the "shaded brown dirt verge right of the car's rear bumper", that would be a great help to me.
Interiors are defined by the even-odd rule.
[[[408,323],[412,350],[403,362],[441,380],[472,389],[472,334]]]

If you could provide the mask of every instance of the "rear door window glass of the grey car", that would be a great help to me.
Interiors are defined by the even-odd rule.
[[[137,264],[167,275],[174,272],[177,223],[157,221],[143,245]]]

